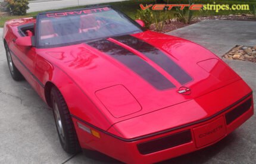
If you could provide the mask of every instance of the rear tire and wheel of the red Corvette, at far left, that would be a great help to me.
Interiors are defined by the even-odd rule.
[[[5,44],[5,53],[6,53],[8,67],[9,67],[9,70],[11,73],[11,77],[13,77],[13,79],[15,81],[23,80],[24,79],[23,75],[20,73],[20,71],[18,71],[18,69],[15,67],[15,65],[13,63],[13,58],[11,58],[11,52],[10,52],[10,49],[8,48],[7,44]]]

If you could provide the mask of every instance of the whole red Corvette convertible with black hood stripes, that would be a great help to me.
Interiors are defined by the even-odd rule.
[[[11,76],[51,106],[68,153],[158,162],[220,141],[254,113],[252,90],[216,55],[110,6],[7,21],[3,39]]]

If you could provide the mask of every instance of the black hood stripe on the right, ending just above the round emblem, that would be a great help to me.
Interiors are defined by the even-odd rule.
[[[113,37],[113,39],[143,53],[143,55],[167,71],[168,74],[174,77],[180,84],[183,85],[192,81],[191,76],[188,75],[179,65],[177,65],[171,58],[168,58],[168,56],[159,49],[149,45],[149,43],[130,35],[117,36]]]

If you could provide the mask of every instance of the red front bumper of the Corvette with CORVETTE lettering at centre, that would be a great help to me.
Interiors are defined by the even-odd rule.
[[[239,112],[238,108],[245,109],[246,106],[243,105],[245,105],[246,102],[250,102],[251,105],[248,109],[243,110],[243,112]],[[76,127],[80,145],[83,148],[95,149],[125,163],[154,163],[194,152],[217,143],[243,124],[243,122],[249,119],[253,114],[253,98],[252,94],[248,94],[244,99],[231,105],[230,108],[217,113],[217,115],[207,119],[207,121],[199,121],[197,124],[191,124],[177,130],[153,135],[152,137],[142,138],[140,140],[122,140],[121,138],[110,135],[104,131],[99,131],[101,137],[96,138],[77,126],[77,122],[80,124],[85,124],[85,122],[74,117],[73,122]],[[90,128],[97,131],[96,128]],[[139,144],[157,140],[158,138],[164,138],[168,135],[182,133],[183,131],[191,131],[191,140],[186,141],[186,143],[177,146],[174,145],[173,147],[165,148],[163,150],[157,150],[156,152],[153,151],[153,153],[152,151],[149,151],[149,153],[142,153],[138,149]]]

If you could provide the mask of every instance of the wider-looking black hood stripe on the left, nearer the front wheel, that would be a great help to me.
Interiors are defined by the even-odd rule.
[[[154,67],[149,65],[139,56],[113,42],[110,42],[109,40],[98,40],[95,42],[89,42],[87,44],[117,59],[117,61],[129,67],[144,80],[148,81],[148,83],[159,90],[166,90],[176,87],[173,83],[171,83],[171,81],[164,77],[164,75],[160,74],[160,72],[155,70]]]

